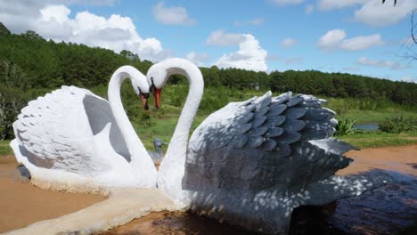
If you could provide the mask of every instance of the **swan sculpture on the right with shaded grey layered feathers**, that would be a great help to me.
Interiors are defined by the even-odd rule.
[[[211,114],[194,131],[192,120],[203,93],[200,70],[189,61],[155,64],[147,78],[159,107],[169,76],[188,78],[190,91],[157,187],[176,203],[220,221],[266,233],[288,233],[292,210],[360,195],[380,178],[341,177],[342,156],[355,148],[330,138],[335,113],[312,95],[271,92],[233,102]]]

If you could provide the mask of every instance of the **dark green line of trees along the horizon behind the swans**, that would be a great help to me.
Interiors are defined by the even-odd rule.
[[[111,74],[123,65],[132,65],[146,74],[152,62],[128,51],[114,53],[99,47],[48,41],[34,31],[11,34],[0,23],[0,139],[12,136],[12,120],[27,101],[61,85],[107,85]],[[413,83],[315,70],[274,71],[268,75],[216,66],[200,69],[205,85],[219,89],[290,90],[329,97],[386,99],[417,106],[417,85]],[[181,76],[171,77],[168,82],[186,83]]]

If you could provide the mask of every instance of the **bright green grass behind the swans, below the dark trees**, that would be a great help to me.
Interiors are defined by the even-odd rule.
[[[127,109],[127,114],[135,127],[137,134],[148,150],[154,150],[153,140],[159,137],[164,142],[169,142],[184,105],[188,87],[186,85],[167,85],[162,92],[161,109],[143,110],[141,103],[137,100],[135,93],[128,84],[123,85],[122,100]],[[90,89],[92,92],[106,98],[107,87],[100,85]],[[213,111],[222,108],[231,101],[244,101],[255,95],[262,95],[266,91],[254,90],[231,90],[226,87],[206,87],[200,110],[194,119],[192,130],[208,117]],[[278,95],[279,93],[273,93]],[[399,105],[392,101],[385,100],[361,100],[361,99],[340,99],[326,98],[324,106],[335,110],[336,118],[356,118],[356,123],[380,123],[387,118],[394,118],[403,115],[405,118],[417,120],[417,107]],[[150,106],[153,99],[150,100]],[[417,134],[386,134],[381,132],[359,132],[353,135],[339,135],[339,139],[356,145],[359,148],[407,145],[417,143]],[[166,150],[167,147],[165,147]],[[0,142],[0,155],[12,154],[9,142]]]

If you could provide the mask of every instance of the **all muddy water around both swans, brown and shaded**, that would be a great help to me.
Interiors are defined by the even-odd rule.
[[[324,207],[298,208],[291,234],[393,234],[417,220],[417,145],[347,153],[355,161],[337,174],[389,173],[397,180],[378,190]],[[41,190],[24,181],[13,157],[0,157],[0,232],[78,211],[99,195]],[[156,212],[103,234],[251,234],[181,212]]]

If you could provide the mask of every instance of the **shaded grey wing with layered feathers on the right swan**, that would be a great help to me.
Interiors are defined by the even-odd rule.
[[[226,188],[290,189],[325,179],[348,165],[341,154],[355,148],[329,138],[338,122],[324,102],[268,92],[230,103],[192,134],[189,169],[210,174],[208,184]]]

